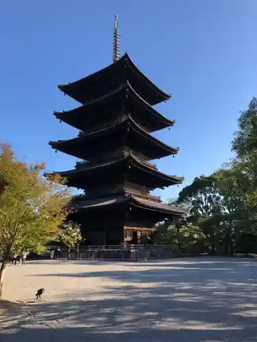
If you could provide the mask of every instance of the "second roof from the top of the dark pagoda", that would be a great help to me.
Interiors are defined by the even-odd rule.
[[[133,101],[139,109],[136,110],[136,114],[139,116],[143,116],[145,114],[144,126],[147,127],[148,124],[149,131],[158,131],[159,129],[173,126],[175,123],[175,120],[165,118],[159,111],[149,105],[147,101],[138,95],[129,82],[125,83],[125,85],[119,86],[119,88],[113,92],[105,94],[101,98],[97,98],[97,100],[89,101],[84,105],[69,111],[54,111],[53,114],[56,118],[66,122],[67,124],[71,124],[71,126],[79,129],[80,131],[85,131],[88,117],[90,118],[94,116],[95,118],[95,116],[99,116],[99,119],[101,120],[103,116],[101,108],[105,109],[106,105],[112,103],[117,105],[118,101],[124,101],[124,99],[127,102],[127,95],[129,95],[130,101]]]

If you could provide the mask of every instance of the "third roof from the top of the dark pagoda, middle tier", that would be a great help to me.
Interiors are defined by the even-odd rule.
[[[119,132],[123,133],[123,136],[124,133],[130,134],[133,139],[130,139],[130,141],[127,142],[127,146],[132,148],[132,145],[134,144],[133,149],[138,150],[138,152],[146,155],[147,157],[149,157],[149,159],[175,155],[178,153],[179,150],[179,148],[168,146],[167,144],[164,144],[164,142],[156,139],[156,137],[153,137],[152,135],[147,133],[147,131],[139,127],[138,124],[134,122],[131,116],[128,116],[128,118],[123,122],[112,124],[108,127],[103,127],[102,129],[97,129],[88,133],[83,133],[82,135],[79,135],[78,137],[70,140],[58,140],[58,142],[50,141],[49,145],[56,150],[60,150],[69,155],[73,155],[74,157],[87,159],[88,150],[86,150],[85,148],[79,149],[79,147],[85,146],[84,144],[90,141],[90,152],[93,153],[93,140],[95,140],[95,142],[96,140],[97,142],[99,142],[101,138],[106,138],[108,136],[108,140],[105,139],[103,144],[103,148],[106,148],[111,137],[113,137],[114,140],[115,138],[117,139],[117,133]]]

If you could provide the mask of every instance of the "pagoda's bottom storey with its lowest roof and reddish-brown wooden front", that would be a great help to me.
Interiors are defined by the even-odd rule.
[[[173,220],[184,212],[159,202],[134,196],[114,196],[73,202],[68,220],[82,228],[84,244],[90,246],[153,244],[154,226]]]

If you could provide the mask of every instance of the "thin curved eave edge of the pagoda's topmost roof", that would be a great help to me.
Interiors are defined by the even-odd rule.
[[[143,79],[145,83],[148,83],[149,88],[152,88],[158,94],[158,96],[160,97],[160,101],[155,101],[155,103],[153,104],[156,104],[162,101],[167,101],[169,100],[169,98],[171,98],[171,94],[168,94],[164,92],[163,90],[161,90],[160,88],[158,88],[158,86],[156,86],[154,82],[152,82],[144,73],[142,73],[142,71],[140,71],[140,69],[136,66],[136,64],[134,64],[134,62],[132,61],[132,59],[127,53],[125,53],[117,62],[110,64],[109,66],[106,66],[106,68],[102,68],[101,70],[98,70],[97,72],[93,74],[83,77],[82,79],[78,79],[77,81],[67,83],[67,84],[58,84],[58,88],[65,94],[73,97],[72,96],[73,88],[77,88],[81,86],[82,84],[86,85],[86,83],[90,83],[97,79],[101,79],[101,77],[103,77],[103,75],[105,74],[116,73],[119,70],[119,68],[123,68],[124,62],[128,64],[130,68],[132,68],[134,73],[136,73],[136,75],[138,75],[139,78]]]

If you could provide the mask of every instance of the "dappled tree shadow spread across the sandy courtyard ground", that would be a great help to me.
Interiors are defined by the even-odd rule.
[[[147,264],[138,264],[133,272],[58,274],[112,278],[125,285],[106,287],[95,300],[86,292],[86,300],[82,293],[73,300],[74,292],[64,302],[57,296],[56,302],[24,305],[19,315],[3,317],[0,340],[4,333],[6,342],[256,341],[256,263],[154,265],[147,270]]]

